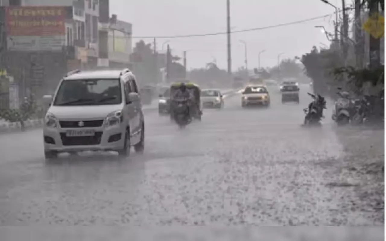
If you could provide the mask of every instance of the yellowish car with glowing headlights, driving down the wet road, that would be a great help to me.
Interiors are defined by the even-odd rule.
[[[270,103],[269,93],[265,86],[247,86],[242,92],[242,107],[251,105],[269,106]]]

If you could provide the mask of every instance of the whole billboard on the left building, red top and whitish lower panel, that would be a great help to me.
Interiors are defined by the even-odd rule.
[[[64,7],[7,7],[7,47],[15,51],[58,51],[65,45]]]

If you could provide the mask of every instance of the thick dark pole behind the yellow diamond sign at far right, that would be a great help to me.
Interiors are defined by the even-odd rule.
[[[374,4],[369,4],[369,18],[373,15],[379,14],[379,3],[374,1]],[[380,39],[374,38],[370,34],[369,41],[369,57],[370,57],[370,69],[376,69],[381,65],[381,42]]]

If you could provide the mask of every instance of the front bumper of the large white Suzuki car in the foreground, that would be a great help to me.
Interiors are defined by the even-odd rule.
[[[67,130],[95,130],[92,137],[66,137]],[[43,130],[45,151],[115,151],[124,146],[125,128],[120,125],[96,128],[48,128]]]

